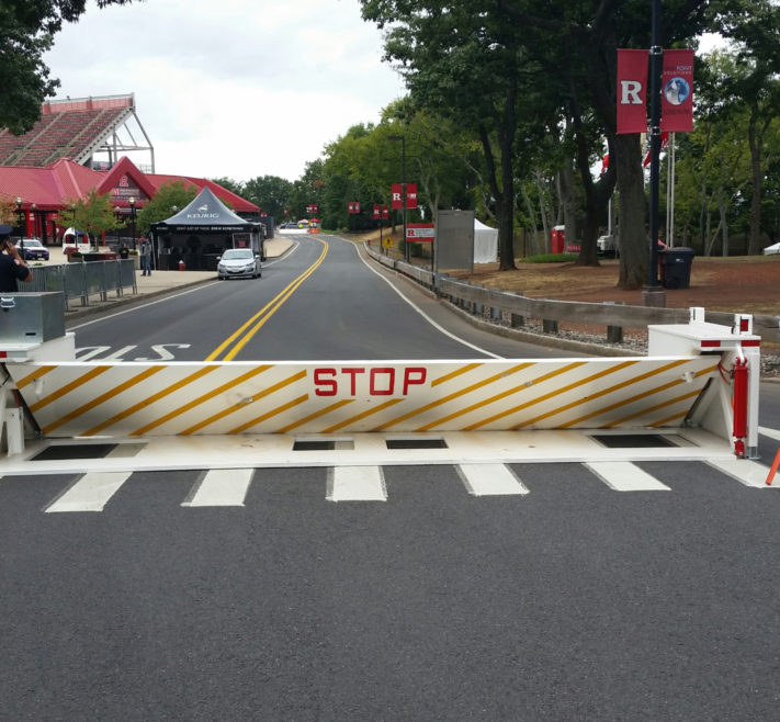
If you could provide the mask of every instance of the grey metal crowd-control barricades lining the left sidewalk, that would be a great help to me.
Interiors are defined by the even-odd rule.
[[[33,266],[31,270],[33,280],[29,290],[61,292],[66,311],[76,298],[80,305],[89,306],[90,296],[97,295],[101,301],[106,301],[109,293],[116,293],[118,298],[124,295],[125,289],[138,292],[133,259]]]

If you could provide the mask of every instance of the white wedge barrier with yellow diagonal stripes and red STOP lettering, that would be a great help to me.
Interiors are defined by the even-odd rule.
[[[759,339],[651,328],[648,356],[386,362],[81,362],[71,334],[0,345],[9,454],[26,435],[138,438],[696,426],[755,452]],[[3,350],[4,348],[4,350]],[[739,370],[743,372],[739,372]],[[743,376],[742,381],[735,382]],[[736,390],[736,391],[735,391]],[[29,428],[23,429],[23,419]]]

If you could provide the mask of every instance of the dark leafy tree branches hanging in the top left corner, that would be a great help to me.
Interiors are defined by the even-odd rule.
[[[133,0],[97,0],[99,8]],[[65,22],[77,22],[87,0],[10,0],[0,4],[0,127],[14,135],[30,131],[41,105],[59,80],[49,77],[43,55]]]

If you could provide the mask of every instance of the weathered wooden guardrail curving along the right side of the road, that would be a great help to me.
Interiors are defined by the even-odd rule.
[[[376,261],[414,279],[421,285],[434,291],[437,295],[450,300],[461,308],[476,315],[490,309],[493,319],[505,313],[510,316],[512,327],[522,327],[527,319],[538,319],[545,331],[557,331],[558,321],[607,326],[609,341],[622,339],[623,328],[647,328],[655,324],[687,324],[688,308],[654,308],[649,306],[630,306],[619,303],[589,303],[585,301],[553,301],[550,298],[529,298],[500,289],[485,289],[465,281],[451,279],[446,273],[433,273],[418,266],[392,259],[365,247]],[[735,312],[736,313],[736,312]],[[734,314],[706,311],[706,320],[711,324],[732,326]],[[753,332],[762,341],[780,343],[780,316],[754,314]]]

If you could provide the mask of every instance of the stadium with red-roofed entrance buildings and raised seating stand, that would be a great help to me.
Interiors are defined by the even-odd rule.
[[[120,225],[126,226],[163,183],[179,180],[199,191],[208,188],[237,215],[264,223],[272,235],[272,218],[218,183],[155,172],[155,149],[132,93],[47,101],[27,133],[15,136],[0,129],[3,222],[11,222],[16,235],[45,245],[58,244],[65,230],[59,212],[93,190],[111,195],[117,218],[124,218]]]

